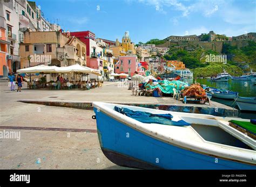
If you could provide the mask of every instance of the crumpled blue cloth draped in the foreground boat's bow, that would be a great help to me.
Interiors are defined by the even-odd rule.
[[[162,124],[174,126],[190,125],[190,123],[187,123],[184,120],[173,121],[173,116],[171,114],[153,114],[150,112],[133,111],[127,108],[119,108],[117,106],[114,106],[114,110],[145,124]]]

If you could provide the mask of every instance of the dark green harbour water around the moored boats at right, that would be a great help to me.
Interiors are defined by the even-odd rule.
[[[195,80],[193,80],[193,82],[194,81]],[[228,82],[212,82],[207,80],[207,78],[203,78],[197,79],[197,82],[200,84],[205,84],[207,87],[236,91],[241,97],[256,97],[256,85],[253,85],[251,81],[229,80]],[[212,100],[238,109],[234,100],[218,99],[214,97],[212,97]],[[256,119],[256,113],[240,111],[239,117],[246,119]]]

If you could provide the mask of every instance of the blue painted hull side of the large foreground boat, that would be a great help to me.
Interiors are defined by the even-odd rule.
[[[94,109],[100,147],[119,166],[141,169],[256,169],[155,139]],[[150,124],[149,124],[150,125]]]

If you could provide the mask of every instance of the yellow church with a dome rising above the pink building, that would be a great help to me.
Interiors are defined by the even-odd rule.
[[[116,46],[110,47],[113,50],[113,55],[116,57],[125,56],[126,54],[136,54],[134,43],[131,42],[129,32],[125,32],[122,38],[122,43],[116,40]]]

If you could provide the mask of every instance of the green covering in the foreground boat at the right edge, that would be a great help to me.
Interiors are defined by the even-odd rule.
[[[230,120],[230,126],[256,140],[256,125],[249,121]]]

